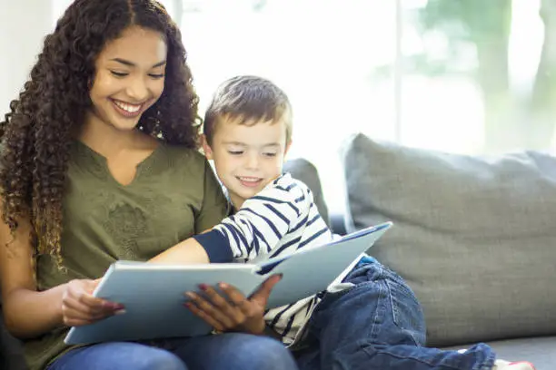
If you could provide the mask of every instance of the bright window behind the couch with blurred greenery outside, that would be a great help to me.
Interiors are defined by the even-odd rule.
[[[550,150],[556,8],[545,1],[163,3],[181,24],[201,108],[236,74],[279,84],[293,102],[291,155],[316,164],[341,211],[338,151],[355,131],[441,151]]]

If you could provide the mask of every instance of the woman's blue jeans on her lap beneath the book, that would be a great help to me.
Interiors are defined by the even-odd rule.
[[[166,339],[146,345],[113,342],[73,349],[48,370],[295,370],[277,340],[248,334]]]

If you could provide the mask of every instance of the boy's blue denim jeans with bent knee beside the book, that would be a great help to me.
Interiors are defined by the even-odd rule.
[[[402,277],[363,258],[344,279],[354,284],[326,293],[313,312],[300,370],[491,370],[494,353],[479,344],[460,354],[425,345],[417,299]]]

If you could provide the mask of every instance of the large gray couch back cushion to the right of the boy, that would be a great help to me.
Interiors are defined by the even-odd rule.
[[[556,334],[556,159],[346,142],[348,231],[392,220],[369,253],[422,303],[430,346]]]

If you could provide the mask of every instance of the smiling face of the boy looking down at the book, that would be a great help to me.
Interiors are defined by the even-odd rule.
[[[215,128],[213,145],[204,141],[204,153],[214,161],[235,209],[282,174],[289,147],[284,122],[238,122],[222,118]]]

